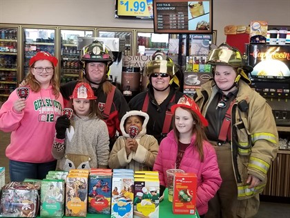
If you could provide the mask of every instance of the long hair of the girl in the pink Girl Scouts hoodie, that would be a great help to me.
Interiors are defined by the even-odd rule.
[[[25,80],[27,81],[27,84],[30,86],[30,89],[34,92],[39,92],[41,87],[39,82],[35,79],[35,76],[32,74],[32,69],[35,66],[34,62],[28,69],[28,74],[26,75]],[[51,62],[52,64],[52,62]],[[50,80],[50,84],[52,85],[52,93],[55,95],[55,98],[59,98],[59,86],[60,86],[60,82],[59,82],[59,75],[58,73],[55,71],[55,66],[52,64],[53,67],[53,74],[52,74],[52,78]]]

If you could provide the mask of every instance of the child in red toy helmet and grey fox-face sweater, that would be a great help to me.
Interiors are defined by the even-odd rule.
[[[96,107],[93,89],[88,83],[79,82],[70,99],[74,109],[71,118],[64,114],[55,125],[52,155],[59,160],[59,169],[106,168],[108,129]]]

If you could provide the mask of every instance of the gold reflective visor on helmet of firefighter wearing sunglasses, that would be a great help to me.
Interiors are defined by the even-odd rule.
[[[144,66],[143,75],[150,77],[152,73],[167,73],[173,78],[173,75],[178,71],[177,66],[173,62],[167,60],[153,60]]]

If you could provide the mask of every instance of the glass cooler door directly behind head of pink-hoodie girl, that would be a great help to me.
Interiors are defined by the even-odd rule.
[[[56,28],[23,28],[23,78],[28,74],[29,60],[39,51],[55,56]]]

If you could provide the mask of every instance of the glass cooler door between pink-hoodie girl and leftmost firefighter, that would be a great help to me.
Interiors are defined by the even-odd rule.
[[[61,83],[66,83],[79,78],[79,55],[77,50],[77,37],[93,37],[95,30],[60,30],[61,58],[59,60]]]

